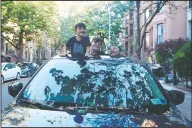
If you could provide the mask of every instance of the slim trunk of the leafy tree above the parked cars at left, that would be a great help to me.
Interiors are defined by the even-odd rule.
[[[18,61],[23,63],[23,29],[19,32],[19,56]]]

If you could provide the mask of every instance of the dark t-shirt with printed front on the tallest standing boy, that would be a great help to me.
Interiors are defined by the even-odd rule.
[[[66,44],[67,48],[71,49],[71,56],[85,56],[86,47],[91,46],[90,39],[88,36],[84,36],[81,41],[76,39],[76,36],[71,37]]]

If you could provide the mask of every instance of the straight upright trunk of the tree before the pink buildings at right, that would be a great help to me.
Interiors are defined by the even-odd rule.
[[[136,49],[136,54],[138,59],[141,59],[141,50],[139,50],[139,46],[140,46],[140,1],[136,1],[136,8],[137,8],[137,36],[136,36],[136,45],[135,45],[135,49]]]

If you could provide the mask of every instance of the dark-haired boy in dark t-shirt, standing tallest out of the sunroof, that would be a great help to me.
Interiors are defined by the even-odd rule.
[[[86,26],[84,23],[78,23],[75,25],[76,36],[71,37],[66,45],[63,47],[63,56],[67,55],[67,49],[71,49],[72,57],[82,57],[89,55],[89,48],[91,46],[90,39],[85,36]]]

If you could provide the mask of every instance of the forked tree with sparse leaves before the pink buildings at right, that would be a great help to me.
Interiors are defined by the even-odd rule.
[[[136,53],[138,59],[141,60],[141,49],[143,47],[143,42],[145,39],[145,34],[147,27],[154,19],[157,13],[164,7],[168,6],[169,14],[173,14],[177,9],[183,9],[180,6],[177,6],[173,1],[147,1],[143,2],[141,5],[140,1],[136,2],[136,15],[137,15],[137,36],[136,36]],[[142,10],[140,9],[143,7]],[[149,11],[149,17],[146,19],[146,22],[140,26],[140,16],[144,15],[147,11]]]

